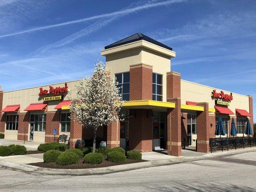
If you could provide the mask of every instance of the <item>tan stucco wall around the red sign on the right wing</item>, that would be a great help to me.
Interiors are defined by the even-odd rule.
[[[219,93],[223,91],[225,94],[230,94],[230,91],[209,87],[206,85],[196,84],[188,81],[181,80],[181,102],[186,104],[186,101],[193,102],[208,102],[209,108],[214,108],[215,100],[212,100],[212,91],[216,89]],[[232,93],[233,100],[229,108],[235,113],[235,109],[244,109],[249,112],[249,97],[240,94]]]

